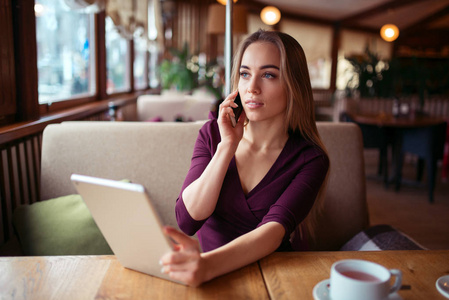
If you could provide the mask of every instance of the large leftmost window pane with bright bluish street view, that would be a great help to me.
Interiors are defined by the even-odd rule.
[[[37,0],[35,13],[39,104],[94,95],[93,14],[54,0]]]

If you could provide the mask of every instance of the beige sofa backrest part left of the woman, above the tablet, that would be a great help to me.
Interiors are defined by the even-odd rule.
[[[41,200],[74,194],[72,173],[145,186],[162,222],[177,227],[175,202],[203,122],[74,121],[45,128]]]

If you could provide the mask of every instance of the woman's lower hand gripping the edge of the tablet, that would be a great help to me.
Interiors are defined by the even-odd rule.
[[[173,251],[161,257],[161,272],[192,287],[207,281],[206,264],[198,241],[170,226],[166,226],[164,231],[177,244]]]

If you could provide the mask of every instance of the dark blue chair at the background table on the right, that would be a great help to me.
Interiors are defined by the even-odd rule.
[[[443,158],[444,142],[446,138],[446,122],[438,125],[405,128],[401,130],[401,159],[398,161],[396,171],[396,190],[399,190],[402,181],[402,165],[405,153],[418,156],[417,180],[422,180],[424,164],[427,167],[427,185],[429,202],[434,201],[433,192],[437,172],[437,162]]]

